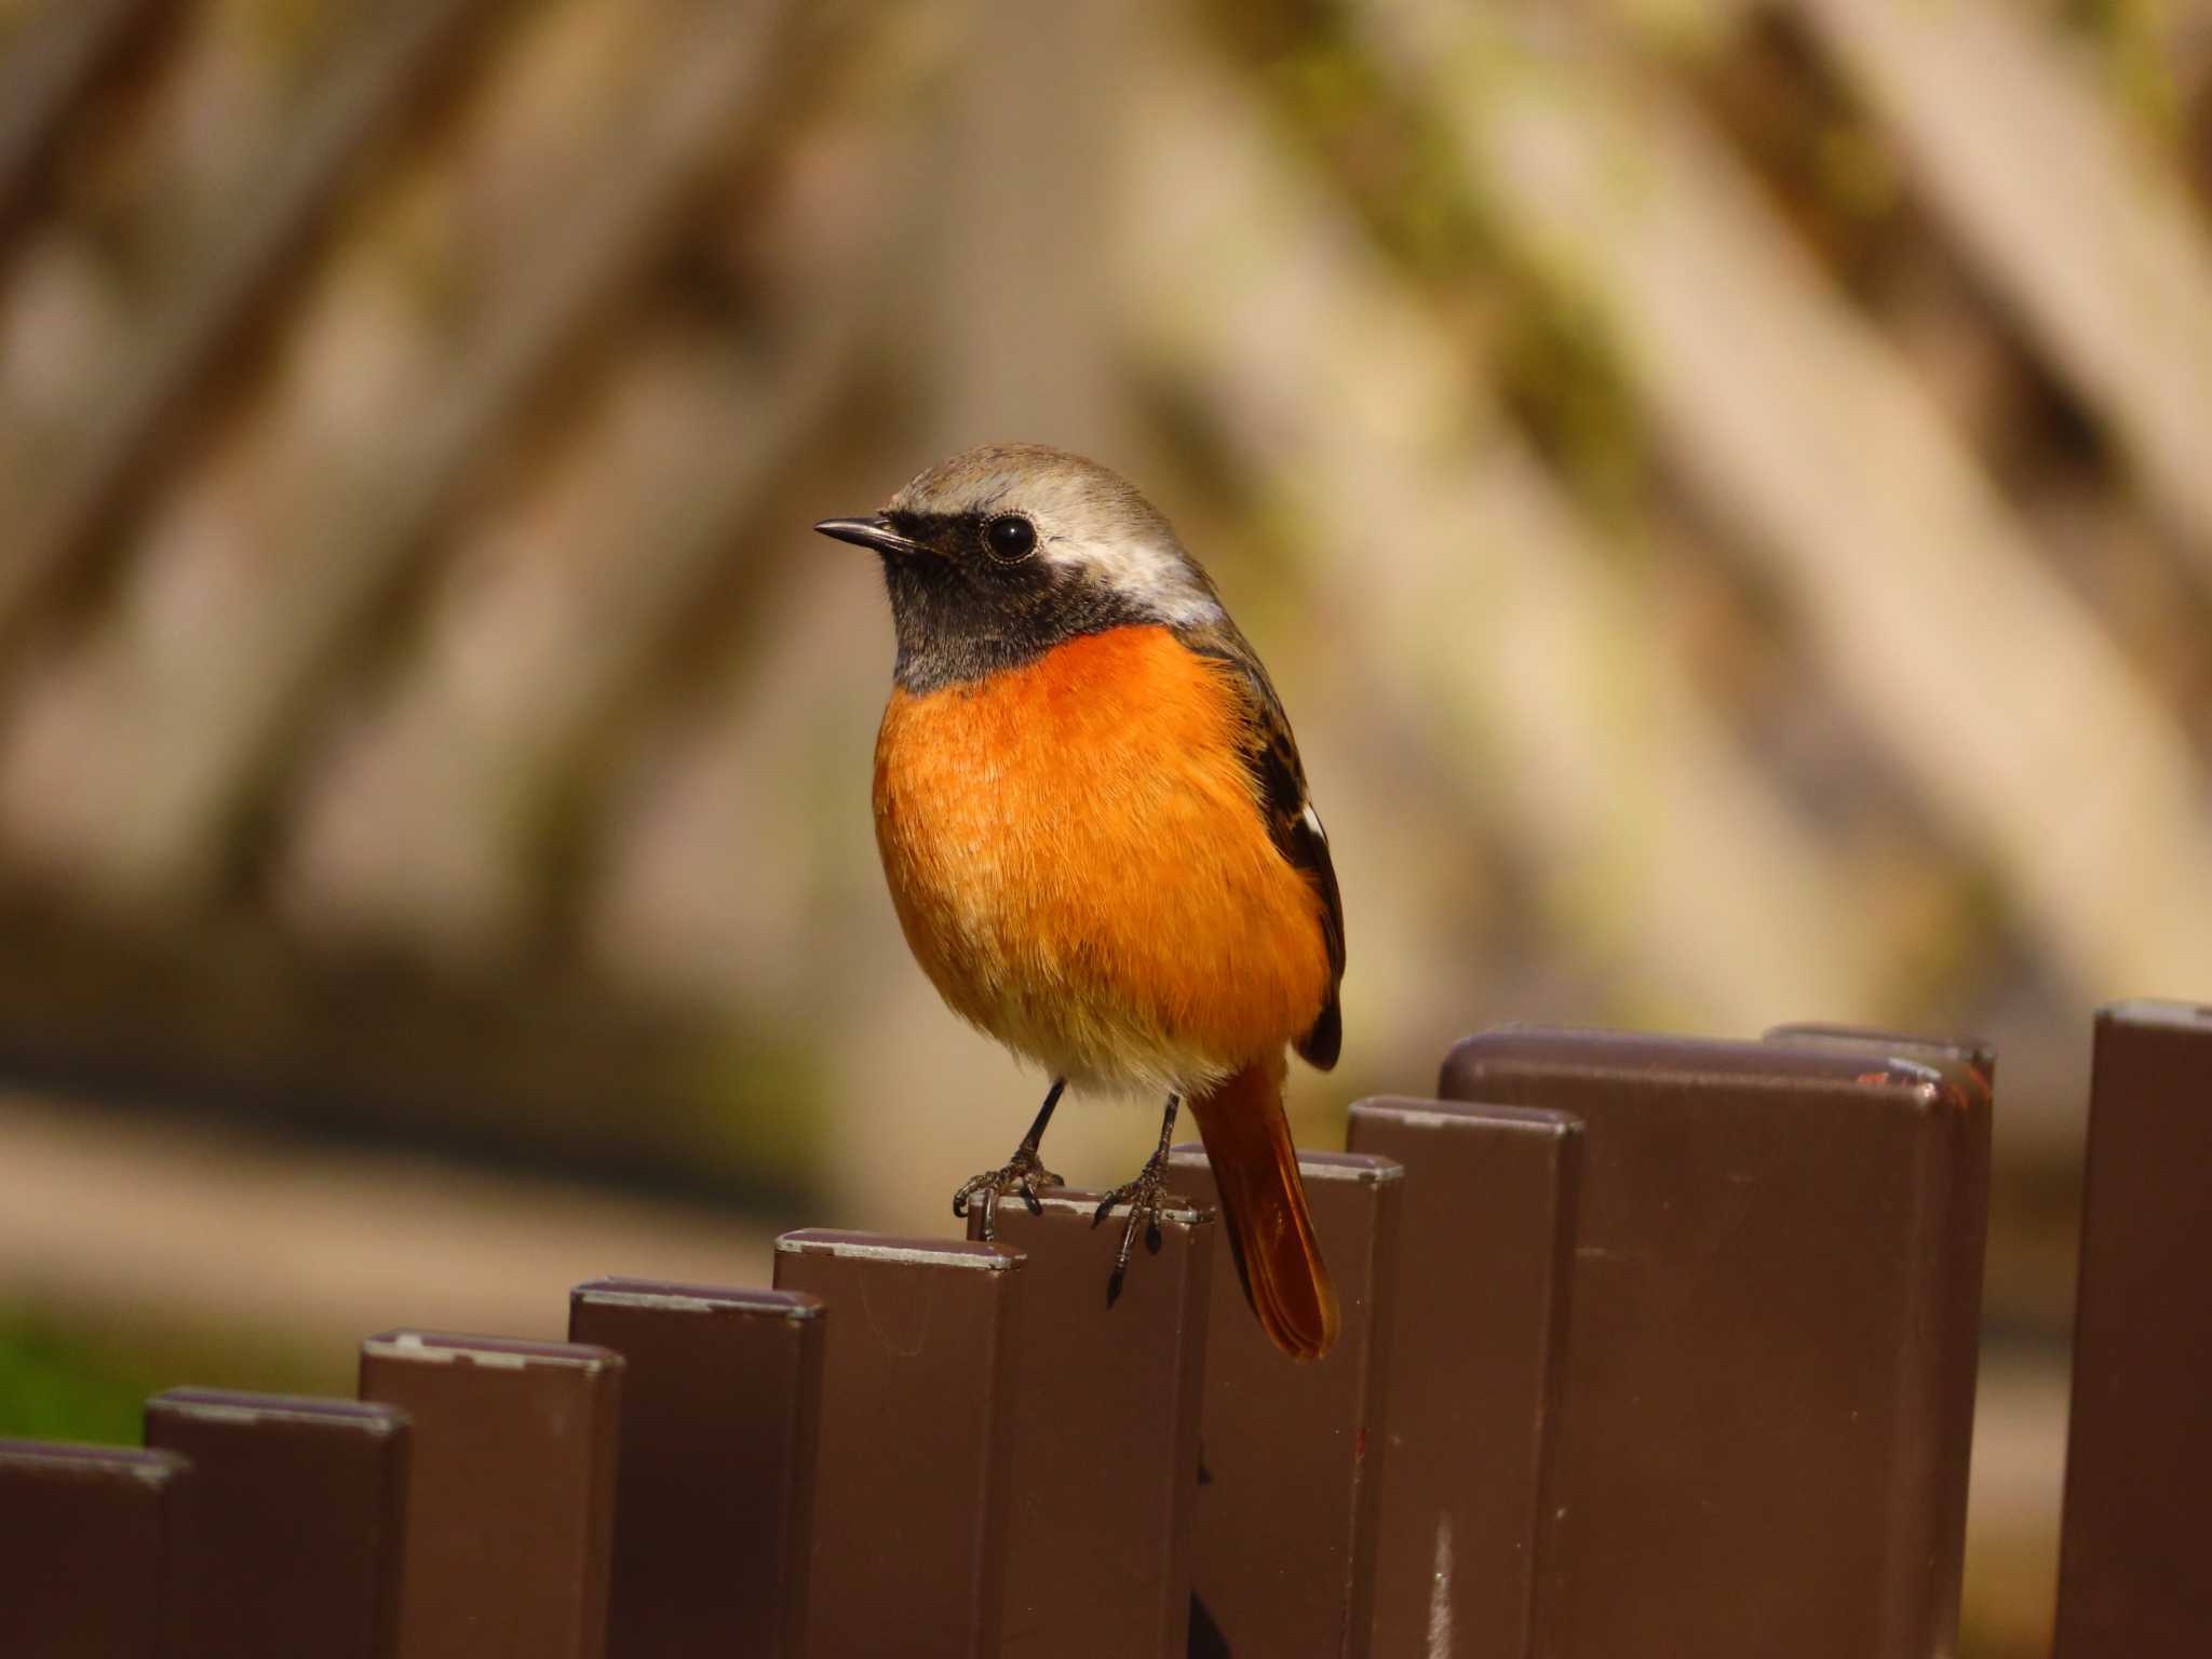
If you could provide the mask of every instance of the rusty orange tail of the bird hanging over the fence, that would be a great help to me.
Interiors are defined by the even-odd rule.
[[[1206,1161],[1214,1166],[1221,1219],[1245,1301],[1274,1345],[1318,1360],[1336,1343],[1336,1292],[1305,1210],[1298,1152],[1283,1117],[1283,1057],[1245,1066],[1214,1091],[1192,1095]]]

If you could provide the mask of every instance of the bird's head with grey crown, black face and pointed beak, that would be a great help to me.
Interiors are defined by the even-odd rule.
[[[880,513],[814,529],[883,557],[896,675],[911,692],[1018,668],[1104,628],[1223,619],[1206,571],[1144,495],[1044,445],[969,449]]]

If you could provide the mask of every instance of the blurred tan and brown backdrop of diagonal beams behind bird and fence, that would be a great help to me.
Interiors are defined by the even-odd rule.
[[[1042,1079],[807,526],[991,438],[1274,670],[1303,1137],[1498,1020],[1997,1042],[2042,1652],[2090,1009],[2212,995],[2208,0],[0,0],[0,1433],[953,1228]]]

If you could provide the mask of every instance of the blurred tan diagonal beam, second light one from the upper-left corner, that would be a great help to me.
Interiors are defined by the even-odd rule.
[[[217,889],[232,832],[281,779],[349,639],[473,469],[529,420],[551,374],[668,250],[734,139],[787,108],[785,46],[796,33],[823,38],[812,11],[785,4],[697,0],[681,11],[650,71],[648,117],[597,148],[591,177],[549,192],[515,281],[422,389],[418,414],[312,484],[294,520],[312,553],[270,564],[252,604],[223,619],[221,641],[170,657],[157,686],[133,692],[139,719],[122,723],[93,785],[108,799],[73,830],[71,856],[108,898],[175,905]],[[164,737],[173,730],[190,743]]]

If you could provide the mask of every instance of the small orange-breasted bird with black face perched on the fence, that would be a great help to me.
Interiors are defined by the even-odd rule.
[[[927,469],[823,535],[883,560],[898,633],[876,845],[945,1002],[1053,1079],[1013,1159],[953,1214],[1060,1186],[1062,1091],[1166,1095],[1159,1148],[1099,1203],[1159,1248],[1181,1102],[1245,1298],[1294,1358],[1336,1338],[1283,1117],[1285,1046],[1343,1044],[1343,900],[1283,703],[1212,580],[1117,473],[1044,445]]]

